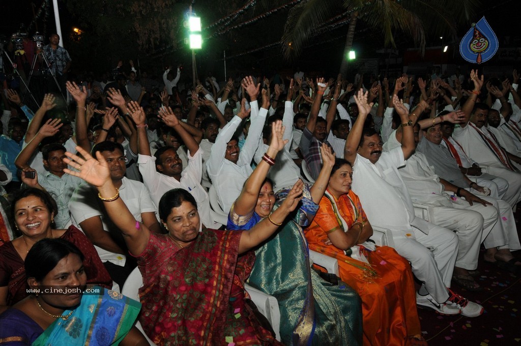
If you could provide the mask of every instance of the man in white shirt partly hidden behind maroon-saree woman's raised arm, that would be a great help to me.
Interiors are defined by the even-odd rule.
[[[110,168],[110,179],[119,189],[119,197],[129,207],[135,219],[154,232],[159,232],[156,207],[142,182],[125,177],[125,156],[119,143],[105,141],[96,144],[93,153],[100,152]],[[110,277],[119,287],[135,267],[135,261],[126,258],[127,250],[121,239],[121,232],[106,214],[97,190],[90,184],[82,183],[69,201],[72,224],[80,228],[92,241],[98,255],[107,268]],[[118,236],[119,235],[119,236]]]

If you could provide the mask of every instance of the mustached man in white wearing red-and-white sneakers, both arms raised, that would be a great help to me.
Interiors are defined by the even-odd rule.
[[[345,142],[344,158],[353,163],[353,191],[364,205],[371,224],[391,230],[394,249],[411,262],[414,275],[423,282],[416,295],[420,307],[445,315],[480,315],[482,306],[449,289],[458,249],[455,234],[415,216],[407,186],[398,172],[415,150],[410,117],[416,121],[416,114],[421,114],[427,104],[420,103],[409,115],[403,101],[393,96],[401,119],[401,146],[382,153],[378,133],[363,128],[373,107],[367,103],[367,94],[360,90],[355,96],[358,118]]]

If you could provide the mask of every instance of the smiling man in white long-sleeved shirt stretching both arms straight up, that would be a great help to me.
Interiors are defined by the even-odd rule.
[[[243,87],[250,95],[250,109],[246,110],[246,99],[242,99],[241,111],[221,129],[215,143],[212,145],[210,158],[206,163],[208,176],[216,189],[219,205],[228,213],[233,202],[239,197],[246,179],[252,174],[250,166],[257,150],[262,129],[268,114],[268,109],[259,111],[257,94],[260,84],[253,83],[253,78],[246,77]],[[242,150],[239,149],[239,140],[234,137],[235,130],[251,111],[252,125]]]

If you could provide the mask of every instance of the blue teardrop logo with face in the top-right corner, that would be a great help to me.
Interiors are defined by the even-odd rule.
[[[460,43],[461,56],[469,63],[481,64],[492,58],[498,51],[498,36],[490,27],[485,17],[467,31]]]

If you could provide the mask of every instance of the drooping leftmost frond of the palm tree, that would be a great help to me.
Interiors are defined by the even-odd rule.
[[[341,0],[306,0],[293,7],[281,39],[284,58],[299,56],[316,30],[340,10],[343,11]]]

